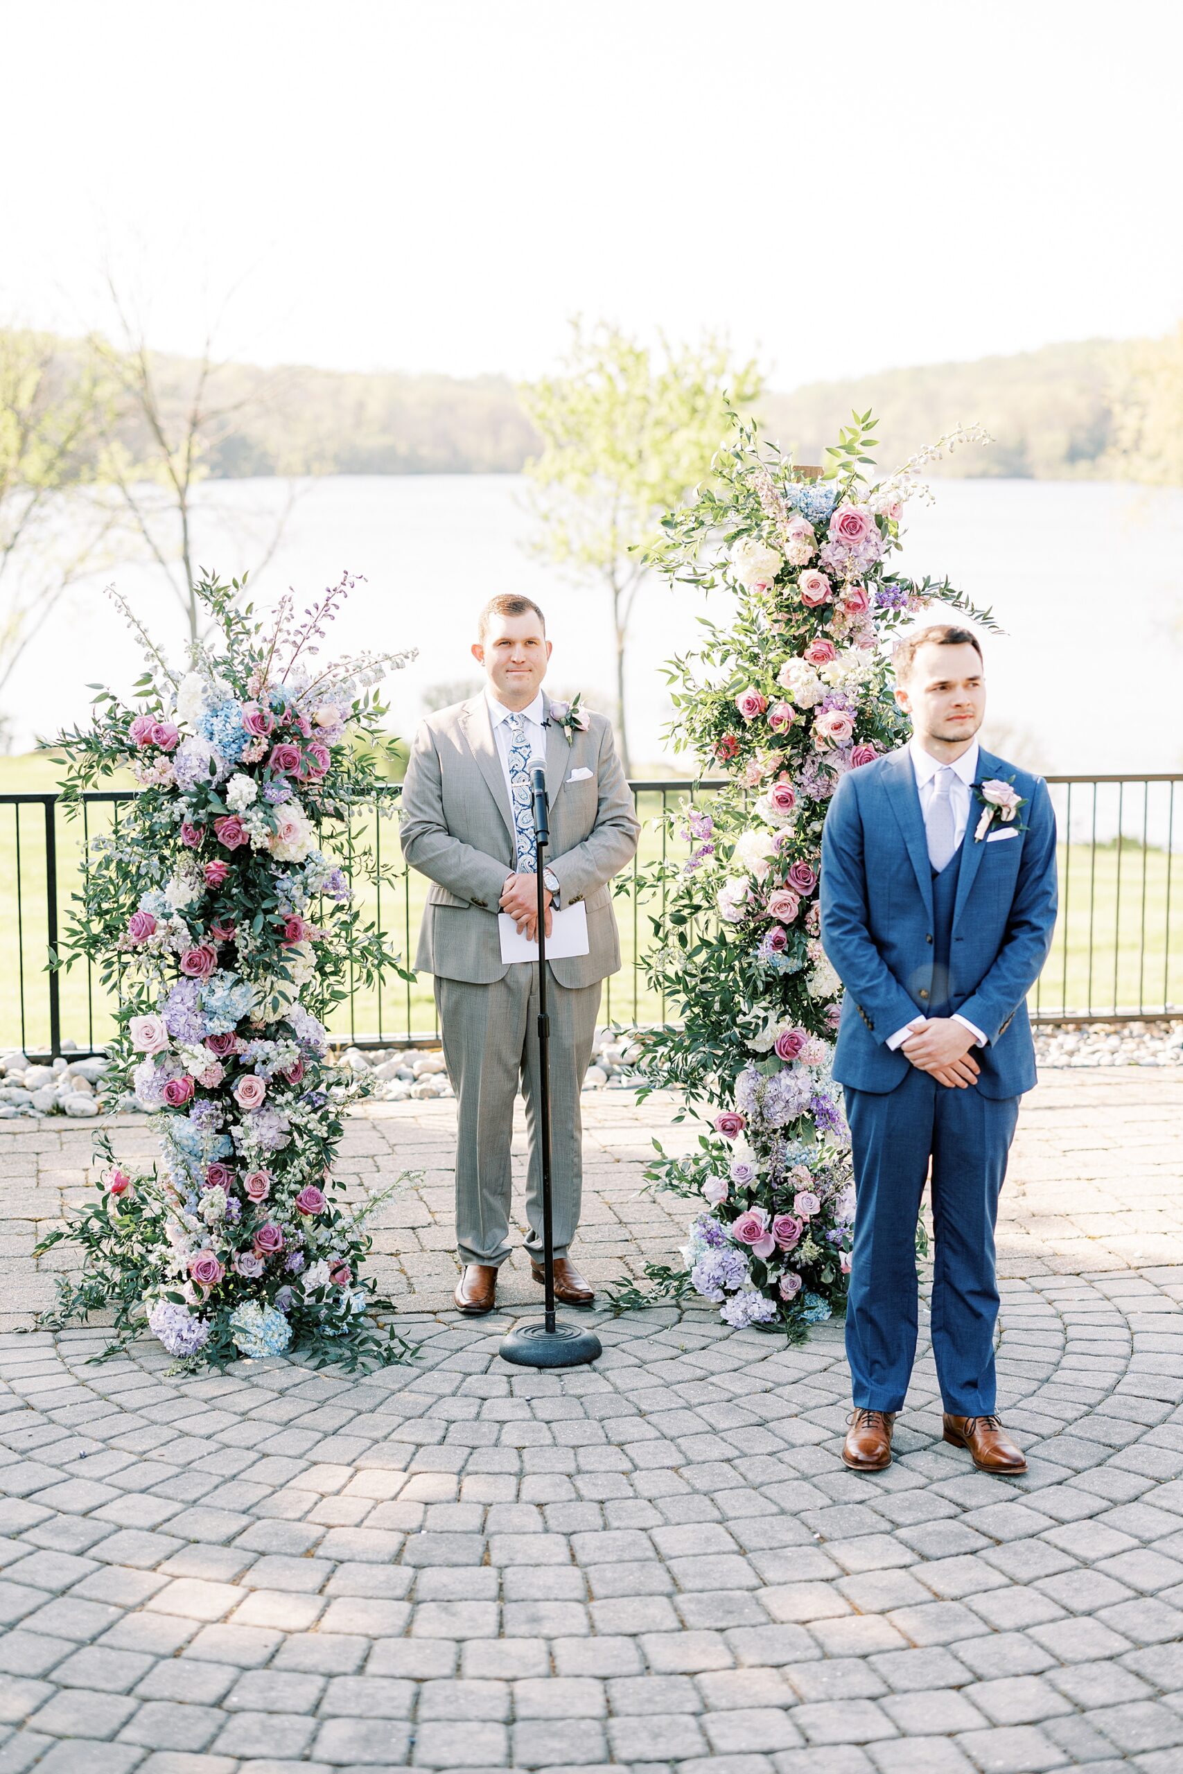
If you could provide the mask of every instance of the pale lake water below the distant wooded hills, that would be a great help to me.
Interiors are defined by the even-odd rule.
[[[1016,761],[1054,772],[1183,768],[1183,491],[1105,483],[944,481],[933,507],[910,506],[906,568],[947,573],[993,605],[1006,635],[988,640],[986,736]],[[223,577],[250,566],[286,488],[211,483],[195,555]],[[614,685],[607,596],[527,552],[532,518],[514,475],[328,477],[305,484],[280,546],[257,575],[261,601],[289,585],[300,605],[339,578],[365,575],[328,646],[419,648],[390,679],[399,731],[424,692],[474,678],[468,644],[479,605],[521,591],[543,605],[555,642],[550,685],[608,708]],[[87,683],[126,690],[140,655],[112,605],[110,578],[181,658],[183,623],[160,577],[126,564],[71,594],[9,688],[16,749],[85,718]],[[635,770],[662,761],[669,720],[662,662],[693,646],[706,600],[660,582],[637,598],[628,651]]]

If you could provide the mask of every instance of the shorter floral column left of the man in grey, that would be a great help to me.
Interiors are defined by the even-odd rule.
[[[401,969],[321,834],[374,804],[376,685],[413,656],[321,663],[353,584],[264,621],[238,580],[202,582],[211,639],[184,674],[115,596],[147,662],[135,706],[99,690],[92,724],[57,740],[67,807],[128,766],[140,784],[92,844],[62,963],[87,956],[119,992],[112,1057],[158,1118],[160,1164],[135,1174],[101,1137],[99,1199],[41,1245],[85,1252],[46,1322],[114,1309],[112,1350],[147,1327],[186,1366],[408,1352],[367,1322],[388,1302],[358,1272],[390,1190],[349,1210],[332,1176],[364,1086],[328,1063],[325,1018],[348,967],[365,983]]]

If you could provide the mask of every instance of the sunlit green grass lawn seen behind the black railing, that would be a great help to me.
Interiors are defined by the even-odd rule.
[[[53,793],[57,773],[48,757],[0,757],[0,795]],[[670,791],[670,805],[679,800],[681,793]],[[639,795],[644,834],[630,878],[662,853],[660,807],[658,791]],[[85,820],[57,816],[62,930],[71,896],[80,891],[87,843],[110,830],[117,809],[110,804],[89,807]],[[369,848],[385,873],[394,875],[394,882],[381,887],[360,882],[364,914],[387,931],[390,947],[413,958],[427,882],[403,866],[397,823],[372,816],[355,830],[353,843],[358,850]],[[1121,850],[1116,844],[1062,844],[1059,862],[1061,919],[1032,1008],[1045,1015],[1089,1008],[1103,1015],[1114,1008],[1153,1011],[1183,1004],[1183,859],[1126,839]],[[9,940],[0,946],[0,1047],[20,1041],[44,1050],[50,1038],[48,921],[44,807],[39,802],[0,804],[0,896],[9,924]],[[651,910],[656,905],[647,907],[633,894],[615,901],[624,965],[605,983],[605,1022],[658,1022],[665,1015],[665,1006],[646,992],[644,974],[633,967],[651,942]],[[103,1043],[110,1006],[85,969],[62,976],[60,1004],[64,1036],[73,1036],[80,1047]],[[333,1018],[333,1032],[342,1040],[433,1034],[431,979],[392,979],[381,992],[358,986]]]

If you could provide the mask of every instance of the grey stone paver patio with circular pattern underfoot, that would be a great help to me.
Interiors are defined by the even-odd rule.
[[[670,1100],[585,1096],[580,1260],[667,1258],[639,1194]],[[537,1290],[449,1311],[452,1103],[349,1130],[358,1187],[424,1171],[376,1267],[422,1343],[367,1378],[277,1361],[89,1366],[35,1222],[90,1130],[0,1126],[0,1774],[383,1767],[649,1774],[1183,1769],[1183,1077],[1045,1073],[1004,1196],[1002,1410],[1030,1471],[938,1439],[837,1460],[841,1327],[591,1316],[594,1370],[497,1357]],[[115,1126],[121,1155],[151,1126]],[[57,1254],[57,1252],[55,1252]]]

